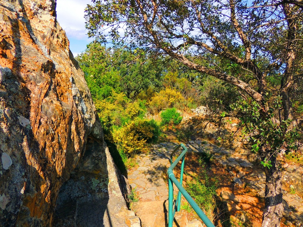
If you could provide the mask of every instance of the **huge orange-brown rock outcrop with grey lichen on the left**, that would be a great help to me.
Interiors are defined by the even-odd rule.
[[[0,226],[64,222],[54,215],[61,187],[59,210],[70,201],[67,209],[99,215],[101,223],[86,226],[107,222],[102,220],[110,201],[109,215],[126,209],[91,94],[55,7],[55,0],[0,0]],[[68,226],[85,226],[85,218]]]

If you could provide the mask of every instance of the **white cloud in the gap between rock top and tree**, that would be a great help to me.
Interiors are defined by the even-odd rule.
[[[69,38],[86,40],[84,10],[91,0],[57,0],[57,19]]]

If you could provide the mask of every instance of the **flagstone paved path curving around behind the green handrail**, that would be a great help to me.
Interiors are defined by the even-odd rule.
[[[165,180],[166,171],[170,166],[170,154],[176,146],[178,146],[178,143],[173,142],[152,145],[148,154],[141,154],[138,157],[138,167],[129,171],[128,180],[132,188],[138,192],[140,201],[163,201],[168,199],[168,183]],[[255,190],[257,196],[265,196],[265,174],[251,173],[249,177],[245,176],[248,169],[252,170],[252,162],[260,161],[249,150],[241,148],[236,150],[226,149],[214,144],[204,143],[201,140],[189,141],[185,146],[189,152],[208,150],[213,154],[214,162],[229,170],[231,179],[233,179],[236,186],[243,187],[245,183],[245,186]],[[174,187],[174,189],[176,188]],[[178,190],[174,190],[174,192],[176,191]],[[301,226],[303,200],[299,196],[283,190],[283,204],[285,207],[283,216],[292,223]]]

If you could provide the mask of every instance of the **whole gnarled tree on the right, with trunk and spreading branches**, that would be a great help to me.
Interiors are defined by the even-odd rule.
[[[89,36],[168,55],[238,90],[241,101],[234,108],[267,177],[262,226],[280,226],[283,205],[276,155],[293,147],[303,121],[296,111],[297,104],[303,104],[301,1],[93,2],[86,9]]]

